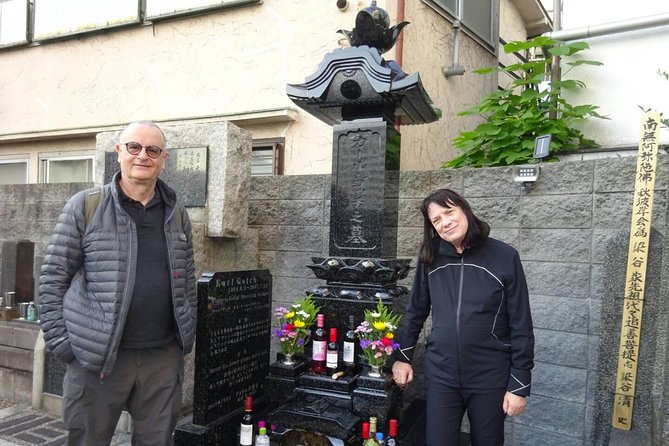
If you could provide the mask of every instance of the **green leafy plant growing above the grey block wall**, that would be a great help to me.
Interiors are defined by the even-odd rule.
[[[485,122],[472,131],[461,132],[453,145],[464,153],[442,164],[449,167],[509,166],[536,162],[534,140],[537,136],[552,135],[550,155],[547,161],[555,161],[555,152],[567,152],[583,147],[597,147],[595,141],[586,138],[577,126],[585,119],[595,117],[608,119],[597,113],[594,105],[572,105],[561,97],[562,90],[585,88],[582,81],[574,79],[548,82],[548,88],[540,89],[544,73],[550,70],[552,56],[573,56],[588,48],[586,42],[561,42],[546,36],[528,41],[509,42],[504,51],[524,52],[532,48],[547,48],[548,55],[513,64],[504,68],[475,70],[479,74],[493,72],[522,73],[506,89],[493,92],[482,102],[459,115],[481,115]],[[541,51],[538,53],[544,54]],[[563,74],[581,65],[601,65],[591,60],[570,60]]]

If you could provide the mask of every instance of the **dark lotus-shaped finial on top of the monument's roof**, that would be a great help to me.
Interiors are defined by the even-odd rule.
[[[340,29],[337,32],[346,36],[351,46],[366,45],[383,54],[395,45],[402,28],[408,24],[409,22],[400,22],[390,26],[388,13],[376,6],[376,0],[372,0],[370,6],[358,12],[353,30]]]

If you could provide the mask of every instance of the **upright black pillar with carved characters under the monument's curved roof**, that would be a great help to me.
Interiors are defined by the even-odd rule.
[[[330,255],[394,257],[384,249],[386,127],[359,119],[334,127]],[[395,213],[395,217],[397,213]],[[397,227],[397,223],[387,227]]]

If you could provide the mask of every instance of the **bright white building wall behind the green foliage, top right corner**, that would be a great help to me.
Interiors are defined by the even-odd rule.
[[[600,25],[655,14],[668,14],[666,0],[564,0],[563,30]],[[579,67],[573,77],[587,88],[566,95],[573,104],[598,105],[609,120],[591,119],[585,135],[603,148],[636,147],[639,143],[639,107],[653,108],[669,117],[669,81],[657,74],[669,72],[669,25],[639,31],[579,38],[590,44],[582,57],[601,67]],[[563,70],[566,67],[563,68]],[[661,144],[669,144],[669,131],[661,131]]]

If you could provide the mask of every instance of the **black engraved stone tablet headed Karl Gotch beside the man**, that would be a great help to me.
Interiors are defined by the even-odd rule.
[[[269,372],[272,277],[268,270],[205,273],[198,281],[193,424],[239,412],[263,395]]]

